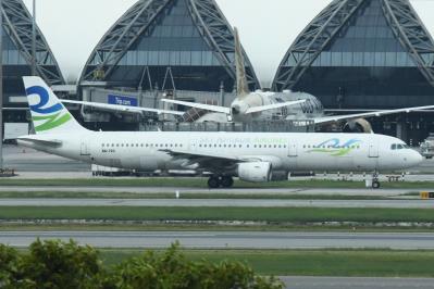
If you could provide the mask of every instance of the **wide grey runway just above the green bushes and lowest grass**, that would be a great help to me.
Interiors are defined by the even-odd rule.
[[[27,247],[40,239],[74,239],[98,248],[191,249],[434,249],[434,234],[249,231],[0,231],[0,243]]]

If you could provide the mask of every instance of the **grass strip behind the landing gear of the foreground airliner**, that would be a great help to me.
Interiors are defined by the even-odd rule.
[[[0,186],[107,186],[107,187],[174,187],[208,188],[206,178],[79,178],[79,179],[0,179]],[[383,183],[383,188],[432,188],[434,183]],[[364,188],[362,181],[290,180],[268,184],[235,181],[236,188]]]

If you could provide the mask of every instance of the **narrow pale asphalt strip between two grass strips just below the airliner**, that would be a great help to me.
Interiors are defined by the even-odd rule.
[[[434,200],[0,199],[0,206],[392,208],[434,209]]]

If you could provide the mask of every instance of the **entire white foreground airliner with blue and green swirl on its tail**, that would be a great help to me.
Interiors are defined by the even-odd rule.
[[[270,181],[273,171],[374,172],[418,165],[399,139],[375,134],[91,131],[82,127],[39,77],[24,77],[36,135],[18,143],[87,163],[140,171],[211,172],[211,188],[233,177]]]

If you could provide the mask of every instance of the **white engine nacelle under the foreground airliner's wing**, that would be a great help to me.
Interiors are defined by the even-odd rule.
[[[238,164],[238,177],[251,183],[266,183],[272,177],[272,165],[268,162],[251,162]]]

